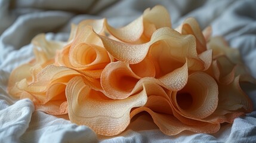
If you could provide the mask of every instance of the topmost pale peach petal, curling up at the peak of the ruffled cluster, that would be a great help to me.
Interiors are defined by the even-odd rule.
[[[107,21],[105,22],[105,26],[111,35],[123,42],[140,43],[150,39],[150,36],[156,29],[171,27],[171,19],[168,11],[164,7],[156,5],[152,10],[147,8],[141,17],[138,17],[125,27],[115,29]],[[143,36],[147,39],[143,40]]]

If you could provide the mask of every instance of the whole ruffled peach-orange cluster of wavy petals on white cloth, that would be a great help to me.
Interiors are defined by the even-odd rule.
[[[118,135],[141,111],[166,135],[215,133],[252,111],[240,83],[256,82],[239,52],[194,18],[172,29],[159,5],[119,29],[106,19],[81,21],[66,45],[32,43],[36,60],[11,73],[9,93],[100,135]]]

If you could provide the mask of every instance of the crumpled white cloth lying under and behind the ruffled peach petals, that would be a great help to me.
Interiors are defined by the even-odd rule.
[[[5,91],[11,70],[33,58],[31,39],[46,33],[47,39],[65,41],[70,23],[106,17],[114,27],[124,26],[148,7],[164,5],[175,28],[186,17],[195,17],[201,28],[212,26],[222,35],[256,77],[256,1],[26,1],[0,0],[0,142],[256,142],[256,87],[245,86],[254,111],[223,124],[214,134],[181,132],[164,135],[147,114],[135,116],[117,136],[97,136],[87,126],[68,117],[35,111],[33,103],[16,101]]]

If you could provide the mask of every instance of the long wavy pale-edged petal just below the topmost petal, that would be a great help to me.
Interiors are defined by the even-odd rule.
[[[122,43],[105,36],[98,36],[101,38],[104,47],[113,57],[129,64],[137,64],[142,61],[146,57],[150,45],[158,41],[162,41],[168,46],[167,54],[175,60],[185,63],[186,58],[191,59],[189,60],[189,67],[193,68],[193,66],[197,66],[201,62],[196,53],[195,38],[191,35],[181,35],[168,27],[156,30],[150,42],[143,44]]]

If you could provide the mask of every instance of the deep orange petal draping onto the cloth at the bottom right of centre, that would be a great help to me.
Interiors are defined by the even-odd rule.
[[[218,123],[208,123],[203,120],[187,119],[175,111],[174,105],[161,86],[155,83],[145,83],[147,102],[143,107],[135,108],[131,117],[141,111],[147,111],[152,116],[156,125],[166,135],[176,135],[183,130],[193,132],[214,133],[220,128]],[[178,118],[177,118],[178,117]]]

